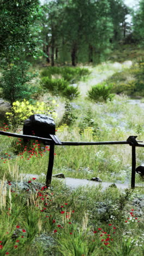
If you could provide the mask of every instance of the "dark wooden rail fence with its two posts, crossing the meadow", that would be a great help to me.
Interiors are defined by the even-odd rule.
[[[29,135],[21,135],[19,133],[11,133],[11,132],[4,132],[0,131],[0,135],[9,136],[9,137],[17,137],[23,139],[34,139],[38,141],[42,141],[44,144],[50,146],[50,153],[49,153],[49,164],[47,168],[46,174],[46,186],[49,187],[51,184],[52,178],[52,168],[54,162],[54,152],[55,152],[55,145],[56,146],[86,146],[86,145],[120,145],[120,144],[129,144],[131,146],[131,188],[135,188],[135,169],[136,169],[136,147],[144,147],[144,144],[139,144],[136,141],[137,136],[129,136],[127,141],[104,141],[104,142],[61,142],[57,138],[57,136],[50,135],[52,139],[37,137],[37,136],[29,136]]]

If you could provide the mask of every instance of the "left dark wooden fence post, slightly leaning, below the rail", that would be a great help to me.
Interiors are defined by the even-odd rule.
[[[50,145],[49,165],[48,165],[47,174],[46,174],[46,186],[47,187],[50,187],[50,184],[51,184],[52,168],[53,168],[53,162],[54,162],[54,152],[55,152],[55,144],[52,143]]]

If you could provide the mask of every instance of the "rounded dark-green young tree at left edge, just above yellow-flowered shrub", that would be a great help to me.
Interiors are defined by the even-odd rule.
[[[26,61],[10,63],[2,70],[1,88],[2,96],[5,100],[9,101],[11,105],[14,101],[30,100],[32,95],[38,92],[38,87],[31,85],[31,80],[36,74],[27,72],[29,63]]]

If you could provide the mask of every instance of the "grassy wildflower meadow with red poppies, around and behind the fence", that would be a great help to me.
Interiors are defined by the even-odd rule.
[[[125,141],[130,135],[143,140],[142,101],[132,104],[128,96],[115,95],[113,101],[93,103],[85,97],[89,86],[99,83],[95,80],[122,71],[124,65],[88,67],[91,75],[79,82],[81,96],[69,103],[73,108],[65,115],[65,123],[72,118],[70,125],[58,126],[61,120],[57,121],[56,135],[61,141]],[[56,69],[53,72],[59,75]],[[59,109],[61,112],[61,105]],[[13,132],[13,127],[1,120],[1,130]],[[21,130],[20,126],[17,132]],[[1,136],[0,148],[2,256],[143,255],[144,195],[139,174],[135,190],[102,190],[101,185],[72,190],[56,178],[51,188],[45,188],[45,176],[37,178],[36,174],[46,174],[48,146],[38,141],[24,145],[21,139]],[[136,148],[136,166],[142,163],[143,149]],[[56,146],[53,174],[58,172],[65,177],[99,177],[105,182],[130,184],[131,147]],[[31,173],[32,178],[23,179],[24,173]]]

